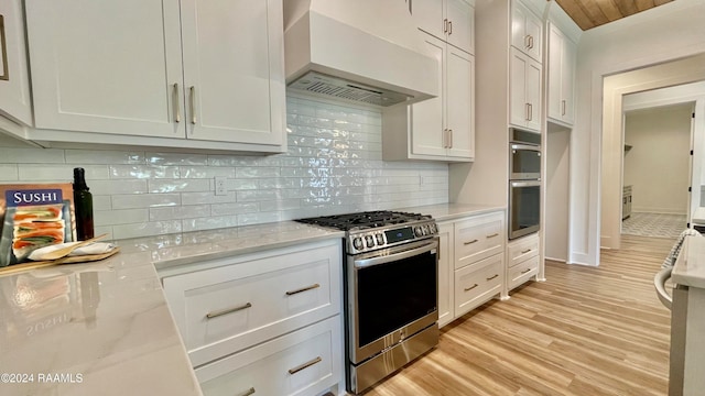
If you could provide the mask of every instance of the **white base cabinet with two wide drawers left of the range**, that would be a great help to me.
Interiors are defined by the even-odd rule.
[[[341,258],[336,239],[164,272],[204,393],[315,395],[341,384]]]

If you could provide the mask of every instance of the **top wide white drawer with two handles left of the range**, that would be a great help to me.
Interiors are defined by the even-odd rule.
[[[194,366],[340,311],[340,245],[165,277]]]

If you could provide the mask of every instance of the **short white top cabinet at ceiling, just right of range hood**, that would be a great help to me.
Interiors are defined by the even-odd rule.
[[[416,25],[451,45],[475,53],[475,8],[465,0],[414,0]]]

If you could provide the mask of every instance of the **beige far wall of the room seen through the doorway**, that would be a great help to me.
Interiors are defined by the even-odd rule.
[[[632,211],[686,215],[693,105],[630,111],[626,116],[623,185]]]

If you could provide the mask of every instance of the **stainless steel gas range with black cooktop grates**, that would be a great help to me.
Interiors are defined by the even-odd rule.
[[[438,343],[433,218],[372,211],[297,221],[346,231],[348,392],[361,393]]]

